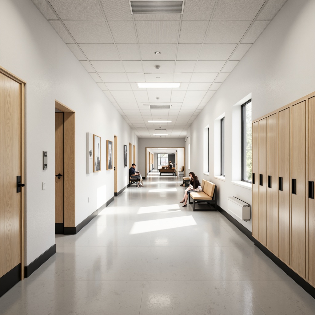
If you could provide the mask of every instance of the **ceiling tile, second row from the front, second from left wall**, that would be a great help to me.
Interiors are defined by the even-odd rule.
[[[63,21],[78,44],[111,44],[105,21]]]

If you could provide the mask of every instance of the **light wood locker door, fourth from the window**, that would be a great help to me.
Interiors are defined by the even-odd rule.
[[[278,120],[278,191],[279,257],[290,264],[290,108],[279,112]]]

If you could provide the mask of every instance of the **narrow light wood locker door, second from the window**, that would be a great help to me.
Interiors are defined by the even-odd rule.
[[[267,118],[259,121],[259,241],[267,245]]]

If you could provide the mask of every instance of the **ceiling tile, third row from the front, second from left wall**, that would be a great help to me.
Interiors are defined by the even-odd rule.
[[[89,60],[119,60],[114,44],[80,44]]]

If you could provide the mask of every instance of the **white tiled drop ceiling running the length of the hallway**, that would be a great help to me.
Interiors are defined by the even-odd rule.
[[[184,138],[286,0],[185,0],[183,14],[131,14],[129,0],[32,2],[139,138]]]

